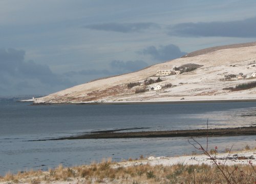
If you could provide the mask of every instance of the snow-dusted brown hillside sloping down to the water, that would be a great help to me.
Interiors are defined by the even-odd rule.
[[[145,80],[155,81],[158,78],[155,76],[157,70],[173,68],[180,70],[181,74],[160,76],[162,81],[155,84],[145,83],[132,88],[127,87],[128,84],[131,87],[132,83],[139,84]],[[194,70],[190,71],[190,69]],[[137,72],[103,78],[36,98],[34,103],[256,99],[256,88],[228,90],[239,84],[256,81],[255,77],[241,79],[237,77],[239,73],[245,75],[254,71],[256,71],[256,42],[211,47]],[[135,93],[138,88],[144,91],[155,85],[161,86],[162,89]]]

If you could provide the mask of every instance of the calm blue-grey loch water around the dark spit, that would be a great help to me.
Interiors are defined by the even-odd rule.
[[[188,138],[136,138],[32,141],[97,130],[142,128],[125,131],[171,130],[256,124],[256,102],[182,104],[52,105],[0,102],[0,175],[30,169],[114,161],[129,157],[172,156],[194,151]],[[256,146],[255,136],[210,138],[210,146]],[[198,138],[202,143],[205,138]]]

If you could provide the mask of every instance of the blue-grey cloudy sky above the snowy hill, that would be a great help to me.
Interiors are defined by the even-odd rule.
[[[255,0],[0,0],[0,96],[50,94],[256,41]]]

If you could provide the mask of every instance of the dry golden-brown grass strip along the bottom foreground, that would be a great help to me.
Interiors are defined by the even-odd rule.
[[[185,165],[117,167],[111,160],[87,166],[63,168],[61,165],[47,172],[29,171],[0,178],[6,183],[227,183],[215,166]],[[256,173],[252,165],[227,166],[233,172],[236,183],[255,183]]]

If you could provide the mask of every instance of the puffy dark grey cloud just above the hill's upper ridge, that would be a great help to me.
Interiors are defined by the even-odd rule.
[[[169,44],[165,46],[161,45],[159,48],[149,46],[140,51],[139,54],[150,55],[153,59],[158,61],[168,61],[180,58],[184,56],[186,52],[182,52],[177,45]]]

